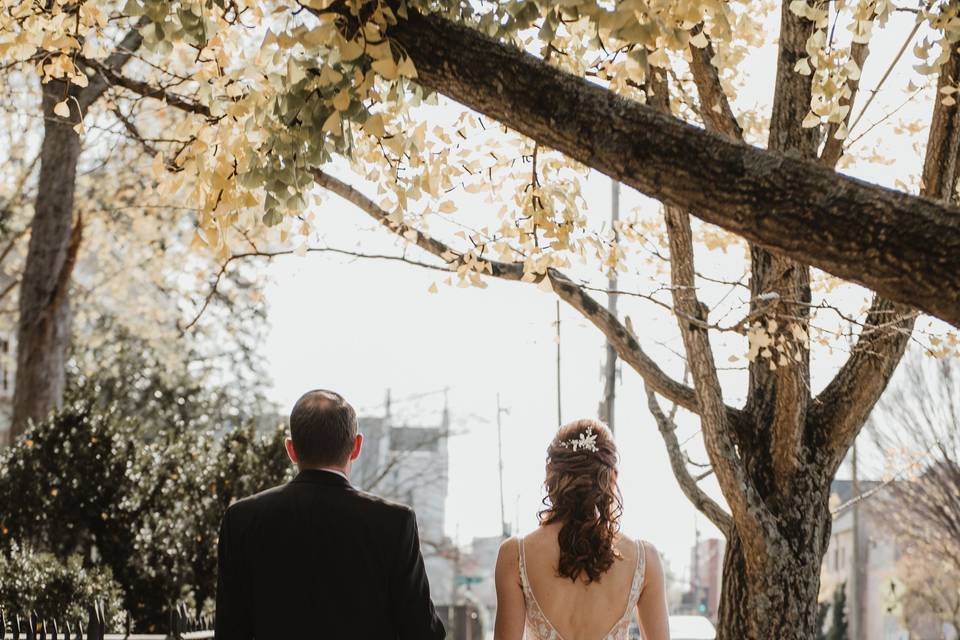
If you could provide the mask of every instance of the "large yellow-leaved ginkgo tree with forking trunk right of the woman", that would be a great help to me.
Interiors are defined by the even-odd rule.
[[[956,2],[92,4],[5,0],[0,55],[36,65],[50,86],[101,78],[180,111],[175,124],[141,114],[130,126],[153,141],[155,196],[195,207],[198,251],[225,268],[238,255],[275,255],[266,245],[277,242],[311,250],[319,186],[432,254],[452,282],[551,290],[643,378],[681,487],[727,536],[718,637],[813,636],[830,482],[918,312],[960,324]],[[767,114],[735,98],[749,82],[737,67],[769,42],[771,13],[780,26]],[[856,162],[846,141],[877,90],[860,87],[871,36],[904,13],[911,73],[935,85],[923,125],[891,128],[905,142],[926,132],[919,195],[836,172]],[[120,24],[142,37],[146,68],[111,60],[104,42],[123,37]],[[438,94],[467,111],[448,117]],[[73,103],[69,92],[50,97],[48,116],[79,136]],[[377,194],[334,177],[337,158]],[[662,202],[662,218],[624,220],[613,239],[588,215],[590,169]],[[452,192],[492,206],[466,211]],[[718,276],[713,261],[695,264],[695,245],[730,241],[691,215],[747,243],[747,284]],[[675,317],[692,385],[573,274],[581,262],[627,270],[638,252],[653,260],[641,266],[668,264],[664,286],[645,297]],[[836,286],[823,272],[876,294],[852,314],[821,304]],[[745,299],[711,308],[705,283]],[[814,394],[811,348],[839,340],[818,326],[821,308],[855,340]],[[737,319],[724,323],[729,314]],[[721,387],[716,345],[727,339],[748,356],[741,406]],[[956,345],[949,330],[929,338],[932,350]],[[699,419],[726,506],[687,468],[674,412],[657,396]]]

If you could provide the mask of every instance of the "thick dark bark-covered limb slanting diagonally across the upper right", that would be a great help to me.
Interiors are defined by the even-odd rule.
[[[956,208],[705,132],[469,27],[409,13],[390,36],[423,86],[665,204],[960,326]]]

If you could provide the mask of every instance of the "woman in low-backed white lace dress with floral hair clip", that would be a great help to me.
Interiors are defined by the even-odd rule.
[[[540,527],[500,547],[494,640],[627,640],[634,610],[645,640],[668,640],[657,550],[620,534],[610,430],[564,426],[546,471]]]

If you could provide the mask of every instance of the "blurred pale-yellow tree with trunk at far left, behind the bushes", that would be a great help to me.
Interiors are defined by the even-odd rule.
[[[132,46],[126,33],[121,46]],[[256,317],[262,309],[249,304],[259,295],[259,276],[234,270],[206,305],[215,318],[186,332],[184,307],[198,286],[206,286],[211,257],[190,250],[193,225],[184,216],[189,207],[143,200],[152,177],[138,159],[149,142],[131,136],[127,117],[142,108],[142,100],[118,95],[104,83],[85,84],[99,91],[97,108],[83,126],[66,127],[44,118],[32,66],[0,75],[0,333],[8,343],[19,336],[21,345],[20,366],[3,363],[22,374],[14,436],[27,418],[58,405],[68,358],[75,375],[109,375],[124,347],[118,336],[130,336],[149,345],[170,376],[188,367],[198,379],[216,371],[247,375],[247,342],[262,326]],[[61,98],[47,110],[56,115],[75,104]],[[171,114],[158,106],[149,107],[152,118],[167,122]],[[44,135],[44,129],[54,133]],[[65,138],[82,143],[82,158],[63,146]],[[191,277],[191,269],[201,277]],[[230,309],[240,300],[239,310]],[[211,334],[215,348],[209,346]],[[201,353],[206,362],[191,362]]]

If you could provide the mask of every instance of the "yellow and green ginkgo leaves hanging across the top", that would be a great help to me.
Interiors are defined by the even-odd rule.
[[[688,73],[691,47],[711,47],[724,90],[740,106],[748,74],[738,66],[769,45],[774,4],[58,0],[45,6],[3,0],[0,61],[30,64],[45,81],[83,87],[123,29],[137,28],[143,47],[125,73],[177,96],[167,100],[167,109],[184,111],[172,124],[138,120],[145,132],[166,141],[152,148],[155,195],[197,208],[196,247],[222,260],[261,240],[305,253],[318,227],[313,205],[320,201],[311,170],[350,165],[376,185],[380,206],[392,223],[406,225],[408,240],[431,225],[451,229],[462,255],[456,281],[483,286],[489,266],[481,256],[521,261],[530,280],[549,267],[581,262],[626,271],[631,255],[656,266],[662,229],[640,213],[615,229],[591,222],[582,165],[425,92],[411,59],[391,42],[391,25],[410,11],[438,13],[636,100],[644,99],[650,67],[668,68],[675,85],[672,111],[700,123]],[[845,139],[851,82],[862,71],[852,48],[867,43],[901,7],[889,0],[794,0],[789,7],[816,25],[807,55],[795,67],[813,86],[803,126]],[[909,42],[915,44],[918,82],[933,77],[960,40],[958,12],[946,0],[913,10]],[[951,95],[956,90],[943,88]],[[69,113],[71,99],[64,96],[61,115]],[[741,110],[746,138],[761,142],[765,116]],[[905,136],[923,128],[913,122],[898,126]],[[83,123],[77,128],[82,131]],[[858,160],[884,161],[875,150],[863,150],[859,158],[848,150],[844,162]],[[497,215],[471,216],[454,195],[460,202],[482,202],[484,212]],[[712,228],[698,233],[708,249],[735,244]],[[817,286],[826,293],[836,283],[821,276]],[[749,341],[747,356],[768,357],[772,366],[800,357],[794,346],[778,345],[807,339],[806,328],[789,323],[739,331]],[[952,334],[949,340],[934,346],[955,350]]]

